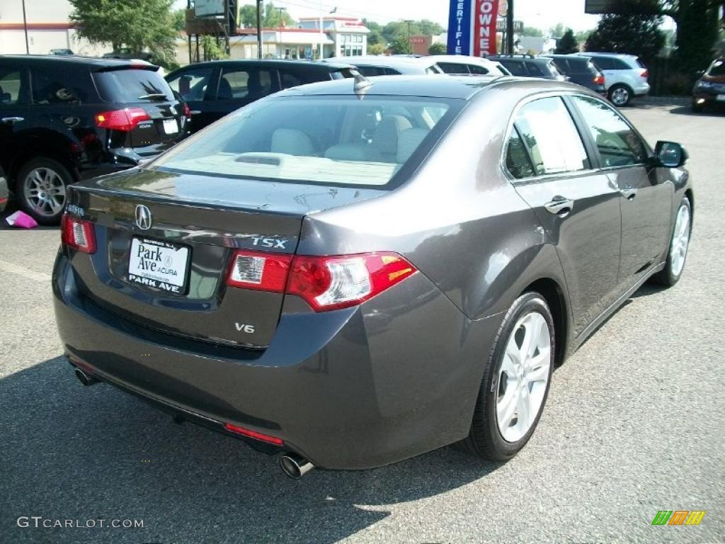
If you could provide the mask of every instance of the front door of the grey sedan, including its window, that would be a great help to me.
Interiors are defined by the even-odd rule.
[[[573,104],[589,129],[602,172],[620,191],[622,250],[621,290],[634,285],[657,264],[666,248],[674,185],[647,165],[650,152],[634,128],[607,102],[573,96]]]

